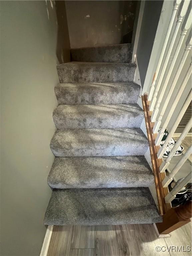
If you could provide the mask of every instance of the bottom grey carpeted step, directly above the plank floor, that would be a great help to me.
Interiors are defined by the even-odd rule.
[[[148,188],[54,189],[45,225],[162,222]]]

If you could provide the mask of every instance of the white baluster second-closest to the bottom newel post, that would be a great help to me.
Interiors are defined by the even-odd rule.
[[[175,174],[180,170],[180,168],[183,166],[183,164],[186,162],[186,160],[188,159],[188,157],[191,155],[192,153],[192,146],[190,146],[188,148],[188,150],[186,151],[186,153],[183,155],[183,157],[181,158],[181,160],[175,165],[175,167],[173,168],[172,172],[170,172],[162,181],[162,185],[163,187],[167,187],[171,181],[173,180],[173,177],[175,176]]]

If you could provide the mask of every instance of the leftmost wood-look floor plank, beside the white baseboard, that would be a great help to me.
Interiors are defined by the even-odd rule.
[[[48,256],[69,256],[73,226],[54,226]]]

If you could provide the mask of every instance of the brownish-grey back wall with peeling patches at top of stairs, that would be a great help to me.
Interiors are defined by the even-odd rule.
[[[123,35],[133,30],[136,3],[66,1],[71,48],[121,43]]]

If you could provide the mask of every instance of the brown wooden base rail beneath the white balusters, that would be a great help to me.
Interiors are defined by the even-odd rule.
[[[159,212],[161,215],[165,214],[170,208],[171,204],[165,203],[165,196],[169,193],[168,188],[163,188],[162,180],[165,178],[165,173],[160,173],[159,166],[162,163],[162,159],[157,158],[157,151],[159,146],[155,146],[155,134],[153,134],[153,125],[151,122],[151,113],[149,111],[149,102],[147,101],[147,94],[142,95],[143,110],[145,113],[145,123],[147,129],[147,136],[149,140],[149,149],[151,155],[151,163],[153,167],[153,173],[155,177],[155,187],[157,192],[157,200]]]

